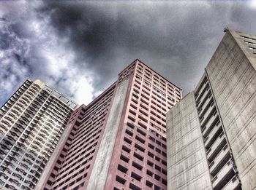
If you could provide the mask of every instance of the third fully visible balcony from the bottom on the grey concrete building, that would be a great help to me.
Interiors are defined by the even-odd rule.
[[[212,144],[211,148],[206,151],[207,159],[209,162],[212,162],[214,158],[219,154],[219,151],[226,145],[226,139],[225,135],[221,133],[219,135],[219,138],[215,140],[215,142]]]

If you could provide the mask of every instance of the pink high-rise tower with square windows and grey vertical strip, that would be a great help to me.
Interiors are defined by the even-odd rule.
[[[179,87],[135,60],[72,114],[36,189],[167,189],[165,114],[180,99]]]

